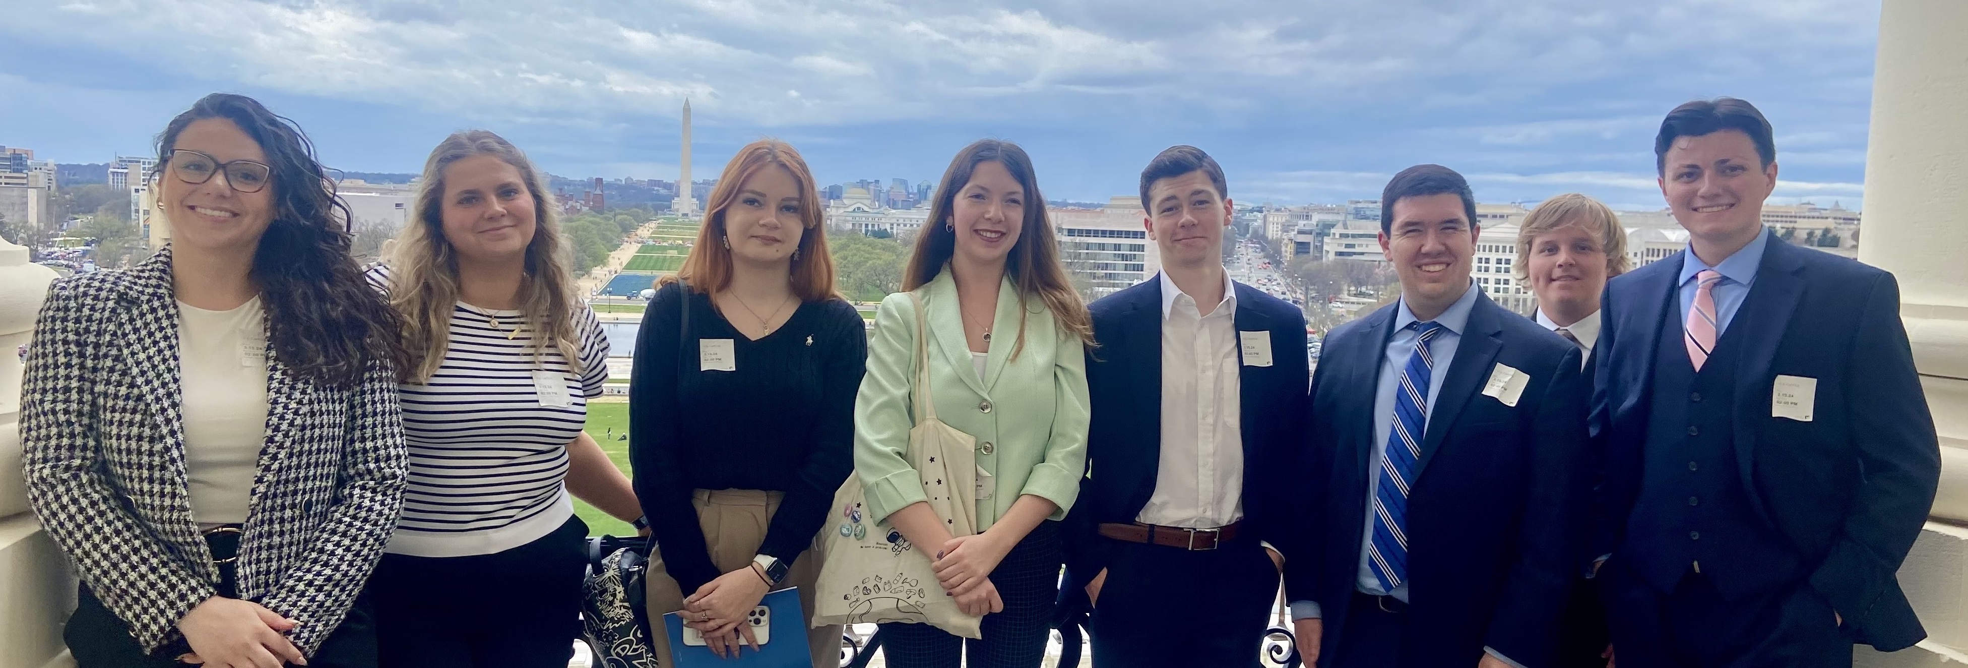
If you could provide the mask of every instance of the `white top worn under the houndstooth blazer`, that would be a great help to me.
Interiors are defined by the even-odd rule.
[[[244,524],[266,445],[266,317],[260,298],[226,311],[177,301],[185,483],[201,526]]]

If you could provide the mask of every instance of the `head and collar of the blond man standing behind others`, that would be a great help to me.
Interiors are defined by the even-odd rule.
[[[1537,296],[1537,323],[1572,341],[1592,359],[1598,300],[1606,280],[1631,268],[1626,229],[1598,199],[1567,193],[1523,217],[1517,233],[1517,280]]]

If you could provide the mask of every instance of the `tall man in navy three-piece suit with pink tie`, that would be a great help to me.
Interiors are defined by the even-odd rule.
[[[1655,138],[1689,248],[1606,286],[1594,554],[1631,666],[1852,666],[1925,636],[1895,571],[1940,451],[1893,276],[1777,240],[1769,122],[1677,106]]]

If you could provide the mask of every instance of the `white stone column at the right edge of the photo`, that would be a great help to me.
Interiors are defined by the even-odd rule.
[[[1940,495],[1899,583],[1929,640],[1862,666],[1968,662],[1968,2],[1885,0],[1866,148],[1860,262],[1899,278],[1940,432]]]

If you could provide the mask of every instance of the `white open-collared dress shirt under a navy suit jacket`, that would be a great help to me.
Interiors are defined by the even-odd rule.
[[[1161,465],[1138,522],[1212,528],[1244,518],[1236,284],[1210,315],[1161,280]]]

